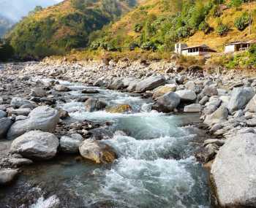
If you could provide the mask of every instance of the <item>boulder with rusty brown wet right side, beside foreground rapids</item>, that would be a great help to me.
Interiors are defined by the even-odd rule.
[[[80,155],[83,158],[94,161],[95,163],[113,163],[117,158],[112,147],[92,139],[86,139],[79,147]]]

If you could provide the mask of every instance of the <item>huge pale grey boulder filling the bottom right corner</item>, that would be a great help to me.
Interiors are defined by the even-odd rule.
[[[211,167],[211,180],[222,207],[255,207],[256,135],[227,139]]]

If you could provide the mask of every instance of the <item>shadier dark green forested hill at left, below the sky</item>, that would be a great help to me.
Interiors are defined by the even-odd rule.
[[[10,31],[7,40],[21,57],[41,58],[86,47],[91,31],[116,20],[136,0],[66,0],[34,12]]]

